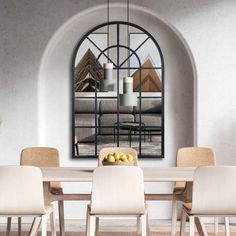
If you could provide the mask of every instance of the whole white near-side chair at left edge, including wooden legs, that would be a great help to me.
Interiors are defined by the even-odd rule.
[[[44,205],[41,170],[32,166],[0,166],[0,215],[6,217],[34,217],[29,235],[47,235],[47,218],[50,217],[52,236],[56,236],[53,206]],[[7,228],[7,235],[10,231]]]

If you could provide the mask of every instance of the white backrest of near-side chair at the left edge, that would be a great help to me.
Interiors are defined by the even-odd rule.
[[[0,215],[45,214],[38,167],[0,166],[0,189]]]

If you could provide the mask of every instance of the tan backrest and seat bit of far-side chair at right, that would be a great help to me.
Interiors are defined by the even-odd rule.
[[[184,147],[177,152],[177,167],[212,166],[215,164],[215,154],[211,148]],[[175,187],[184,188],[185,182],[176,182]]]

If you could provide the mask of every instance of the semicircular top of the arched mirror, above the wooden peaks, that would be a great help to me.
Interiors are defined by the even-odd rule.
[[[147,52],[150,47],[153,49],[149,50],[151,53],[145,54],[144,52]],[[101,64],[112,63],[115,69],[130,69],[130,64],[133,69],[144,68],[143,64],[148,58],[150,58],[152,68],[159,71],[164,69],[164,59],[159,44],[148,31],[134,23],[106,22],[89,30],[81,38],[74,51],[73,64],[75,66],[86,53],[86,48],[91,49],[96,60]],[[115,50],[116,53],[114,53]],[[111,54],[115,56],[112,58]],[[126,57],[120,56],[125,54]]]

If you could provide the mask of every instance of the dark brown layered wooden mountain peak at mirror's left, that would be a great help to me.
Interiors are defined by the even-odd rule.
[[[95,92],[95,82],[97,82],[98,91],[99,82],[103,80],[101,68],[93,52],[88,49],[74,69],[75,92]]]

